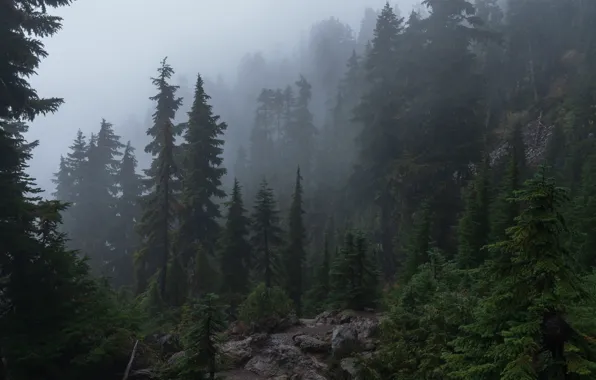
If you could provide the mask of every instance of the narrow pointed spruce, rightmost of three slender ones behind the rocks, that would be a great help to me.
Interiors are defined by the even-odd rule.
[[[300,168],[296,171],[296,184],[294,186],[294,195],[290,206],[290,215],[288,218],[288,247],[285,252],[285,285],[286,292],[294,301],[296,315],[302,315],[302,296],[304,293],[304,262],[306,252],[304,249],[306,240],[306,230],[304,228],[302,209],[302,176]]]

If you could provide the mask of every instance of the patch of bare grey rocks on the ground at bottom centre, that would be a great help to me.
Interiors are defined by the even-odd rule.
[[[217,375],[227,380],[357,379],[357,358],[374,353],[380,318],[372,312],[325,312],[255,334],[231,326],[229,340],[220,347]],[[182,355],[171,353],[169,360]],[[339,365],[331,368],[332,359]]]

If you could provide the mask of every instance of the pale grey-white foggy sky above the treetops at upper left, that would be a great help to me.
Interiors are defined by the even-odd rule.
[[[103,117],[126,135],[125,120],[142,122],[154,92],[149,78],[166,55],[177,74],[233,80],[245,53],[290,51],[312,23],[331,16],[357,31],[364,8],[378,9],[385,1],[75,1],[56,12],[64,18],[63,29],[46,41],[49,57],[32,79],[41,96],[63,97],[66,103],[32,124],[29,137],[41,145],[30,173],[40,186],[51,187],[59,156],[77,129],[89,135]],[[402,11],[413,2],[392,1]]]

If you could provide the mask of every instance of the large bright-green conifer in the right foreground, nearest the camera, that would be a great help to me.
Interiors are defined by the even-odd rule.
[[[491,294],[466,326],[469,335],[455,341],[458,353],[450,359],[457,378],[567,379],[593,371],[594,344],[569,317],[587,292],[563,247],[567,192],[545,172],[542,167],[514,193],[526,208],[506,240],[490,247],[507,260],[507,270],[492,266]]]

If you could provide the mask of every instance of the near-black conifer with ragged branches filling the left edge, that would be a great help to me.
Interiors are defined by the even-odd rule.
[[[28,78],[47,55],[41,38],[61,27],[48,9],[70,3],[11,1],[0,11],[0,370],[14,380],[109,378],[103,352],[114,353],[111,342],[128,339],[114,332],[120,321],[106,293],[65,247],[58,231],[64,205],[41,201],[26,174],[37,143],[25,141],[24,121],[62,103],[40,98]]]

